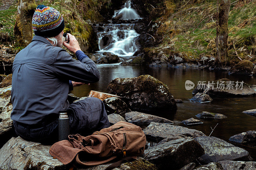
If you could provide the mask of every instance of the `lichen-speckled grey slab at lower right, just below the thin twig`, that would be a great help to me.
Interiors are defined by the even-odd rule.
[[[195,140],[204,148],[205,154],[198,159],[202,163],[250,160],[247,151],[217,137],[200,136]]]

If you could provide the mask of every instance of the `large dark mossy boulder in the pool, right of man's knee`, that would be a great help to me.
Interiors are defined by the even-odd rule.
[[[137,111],[177,109],[168,87],[150,75],[116,78],[108,84],[108,93],[123,97]]]

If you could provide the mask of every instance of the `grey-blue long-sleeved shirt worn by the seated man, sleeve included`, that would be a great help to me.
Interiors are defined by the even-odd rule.
[[[31,125],[56,116],[69,106],[69,80],[87,84],[99,79],[90,58],[77,61],[66,50],[34,36],[13,62],[11,119]]]

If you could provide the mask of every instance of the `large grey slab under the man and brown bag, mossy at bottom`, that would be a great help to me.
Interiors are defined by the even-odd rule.
[[[72,164],[63,165],[58,159],[53,158],[49,154],[51,145],[42,145],[41,143],[29,142],[19,137],[12,137],[0,149],[0,169],[40,169],[40,170],[59,170],[69,169]],[[112,163],[98,166],[79,167],[78,170],[102,170]],[[149,163],[143,158],[138,157],[135,161],[121,164],[117,170],[138,169],[143,167],[152,167],[156,170],[156,166]]]

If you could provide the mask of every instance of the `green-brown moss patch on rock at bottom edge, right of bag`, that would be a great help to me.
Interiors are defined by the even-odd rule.
[[[137,170],[137,169],[141,169],[141,170],[157,170],[156,165],[148,162],[145,159],[140,159],[140,160],[134,160],[132,162],[128,162],[125,163],[124,165],[129,166],[129,170]]]

